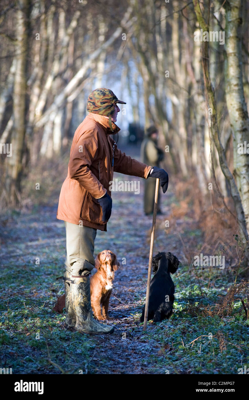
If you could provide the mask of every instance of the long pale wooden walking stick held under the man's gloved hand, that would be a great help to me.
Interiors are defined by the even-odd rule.
[[[157,219],[158,192],[159,192],[159,178],[157,178],[157,182],[156,182],[155,202],[154,202],[154,210],[153,210],[153,222],[152,222],[152,231],[151,231],[151,247],[150,247],[150,256],[149,256],[149,268],[148,268],[146,300],[145,300],[145,320],[144,320],[144,328],[143,328],[144,332],[147,329],[147,320],[148,320],[148,311],[149,311],[149,294],[150,294],[150,286],[151,286],[151,266],[152,266],[153,247],[154,247],[156,219]]]

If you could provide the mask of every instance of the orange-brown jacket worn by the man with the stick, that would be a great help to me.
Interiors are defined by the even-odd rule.
[[[120,128],[112,122],[114,132]],[[96,199],[107,193],[113,172],[147,179],[151,166],[122,153],[115,145],[112,162],[113,138],[109,121],[100,114],[89,113],[78,126],[72,140],[68,175],[62,184],[57,218],[106,231],[102,209]]]

